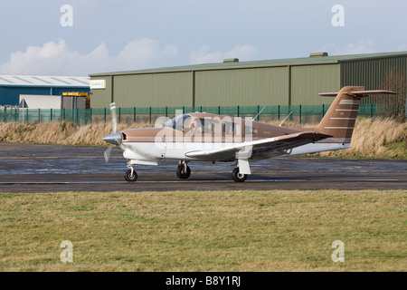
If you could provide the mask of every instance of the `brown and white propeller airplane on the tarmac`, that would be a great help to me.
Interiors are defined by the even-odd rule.
[[[251,174],[250,162],[256,160],[350,148],[361,99],[374,94],[396,92],[345,86],[339,92],[319,93],[336,98],[322,121],[312,129],[191,112],[181,113],[171,120],[158,120],[156,128],[117,131],[113,102],[110,105],[113,132],[103,138],[111,144],[105,151],[105,160],[109,161],[114,146],[123,150],[128,160],[125,179],[129,182],[137,180],[135,166],[158,165],[160,160],[178,160],[176,175],[179,179],[190,177],[190,161],[236,162],[232,179],[243,182]]]

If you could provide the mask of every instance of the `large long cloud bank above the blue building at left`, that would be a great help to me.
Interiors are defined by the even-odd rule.
[[[25,52],[12,53],[0,65],[3,74],[88,75],[108,71],[139,70],[171,63],[178,55],[173,44],[141,38],[125,45],[116,56],[110,56],[106,43],[100,43],[90,53],[72,50],[65,40],[29,46]]]

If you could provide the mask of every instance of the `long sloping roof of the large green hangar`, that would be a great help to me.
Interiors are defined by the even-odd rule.
[[[90,77],[120,75],[120,74],[137,74],[137,73],[167,73],[167,72],[188,72],[188,71],[209,71],[222,70],[233,68],[253,68],[253,67],[271,67],[271,66],[287,66],[287,65],[307,65],[307,64],[328,64],[328,63],[346,63],[359,60],[369,60],[374,58],[386,58],[406,56],[407,52],[396,53],[364,53],[364,54],[349,54],[349,55],[327,55],[327,53],[311,53],[308,57],[289,58],[265,61],[251,62],[225,62],[225,63],[204,63],[192,64],[185,66],[173,66],[156,69],[115,72],[115,73],[91,73]]]

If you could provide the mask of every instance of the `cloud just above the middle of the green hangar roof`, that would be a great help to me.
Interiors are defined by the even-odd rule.
[[[211,52],[209,46],[203,45],[200,49],[190,53],[189,63],[222,63],[225,58],[250,60],[256,53],[256,47],[248,44],[238,45],[227,52]]]

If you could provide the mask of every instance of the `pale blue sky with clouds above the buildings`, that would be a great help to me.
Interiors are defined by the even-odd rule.
[[[405,0],[4,0],[0,74],[407,51]]]

